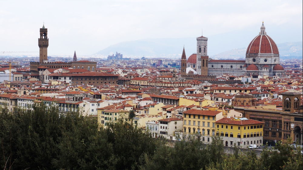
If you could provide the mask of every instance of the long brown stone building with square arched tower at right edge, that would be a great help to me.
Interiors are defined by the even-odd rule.
[[[265,122],[264,143],[275,145],[277,141],[292,138],[302,145],[303,108],[301,92],[289,90],[282,93],[283,108],[269,109],[262,106],[244,107],[234,106],[235,111],[241,112],[243,117]]]

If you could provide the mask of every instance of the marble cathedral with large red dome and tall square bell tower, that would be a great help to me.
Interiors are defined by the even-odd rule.
[[[265,32],[262,22],[259,34],[249,43],[245,60],[213,60],[207,55],[207,37],[197,38],[197,53],[192,54],[186,61],[186,68],[182,69],[183,55],[181,58],[181,75],[194,73],[198,75],[216,76],[231,74],[245,75],[252,78],[258,76],[285,75],[284,68],[279,64],[279,50],[276,43]],[[183,73],[182,73],[183,72]]]

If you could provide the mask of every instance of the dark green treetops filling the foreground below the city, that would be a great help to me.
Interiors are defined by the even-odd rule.
[[[54,106],[37,104],[13,112],[0,108],[1,169],[302,169],[302,148],[290,142],[279,142],[260,155],[236,146],[227,154],[219,136],[210,145],[195,136],[168,142],[122,119],[104,129],[95,117],[60,115]]]

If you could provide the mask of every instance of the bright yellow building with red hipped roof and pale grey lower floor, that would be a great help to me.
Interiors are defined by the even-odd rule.
[[[216,121],[216,135],[222,137],[225,146],[234,144],[241,148],[261,146],[264,122],[247,118],[222,118]]]

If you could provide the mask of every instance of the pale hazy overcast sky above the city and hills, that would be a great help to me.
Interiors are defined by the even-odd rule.
[[[285,42],[302,41],[302,0],[1,0],[0,7],[0,51],[38,51],[43,22],[48,55],[89,55],[144,38],[197,37],[201,28],[207,36],[259,29],[262,20],[266,28],[298,33],[275,35],[283,34]]]

